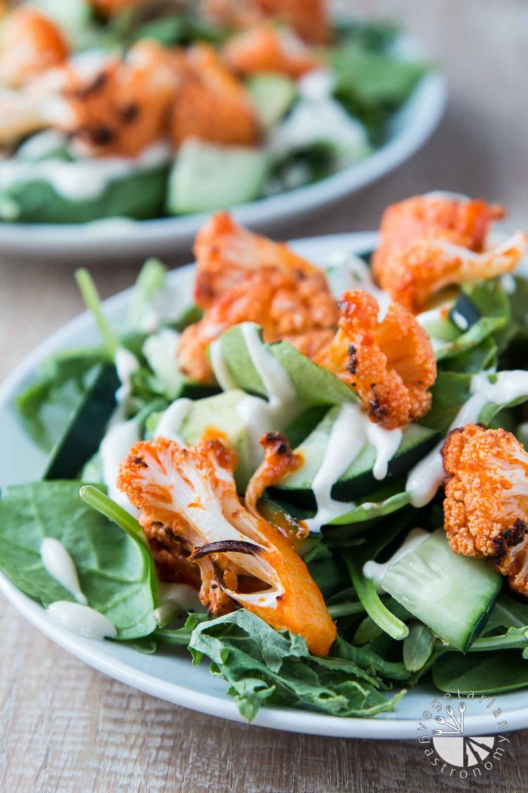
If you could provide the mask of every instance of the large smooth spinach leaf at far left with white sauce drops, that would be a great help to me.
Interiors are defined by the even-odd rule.
[[[147,636],[156,628],[150,553],[139,534],[131,538],[131,528],[125,533],[85,504],[79,486],[44,481],[7,489],[0,501],[0,569],[44,607],[55,600],[74,600],[47,573],[40,557],[43,539],[55,538],[73,558],[89,605],[116,626],[118,638]],[[130,515],[128,519],[135,523]]]

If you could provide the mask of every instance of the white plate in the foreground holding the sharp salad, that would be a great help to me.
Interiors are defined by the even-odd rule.
[[[345,234],[298,240],[294,247],[314,262],[323,262],[333,252],[368,251],[375,243],[375,234]],[[173,270],[170,275],[171,282],[180,285],[183,294],[188,293],[191,277],[191,267]],[[130,292],[128,289],[104,303],[106,316],[116,326],[123,321]],[[92,316],[88,313],[78,316],[37,347],[0,389],[2,488],[38,478],[44,466],[44,454],[32,445],[17,420],[13,397],[28,385],[36,366],[48,354],[68,347],[96,343],[97,340]],[[118,643],[93,642],[70,634],[51,622],[42,607],[19,592],[1,574],[0,590],[30,623],[72,655],[101,672],[168,702],[242,721],[232,699],[225,694],[226,686],[207,671],[207,661],[193,667],[185,649],[177,655],[143,655]],[[431,700],[437,695],[439,691],[431,686],[420,685],[402,699],[395,714],[381,714],[376,718],[336,718],[308,711],[263,708],[253,723],[276,730],[335,737],[417,738],[420,718],[424,711],[431,710]],[[471,703],[470,712],[465,718],[466,730],[471,734],[496,731],[490,711],[486,711],[486,704]],[[496,707],[502,709],[501,718],[507,719],[507,729],[528,727],[528,691],[497,695]]]

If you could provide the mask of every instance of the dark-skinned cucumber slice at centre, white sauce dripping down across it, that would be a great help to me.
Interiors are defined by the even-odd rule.
[[[304,463],[302,468],[291,473],[274,488],[273,492],[278,498],[292,501],[307,510],[316,507],[312,482],[325,457],[332,427],[339,411],[340,408],[337,406],[331,408],[321,423],[298,447],[297,451],[302,454]],[[438,433],[427,427],[421,427],[418,424],[409,424],[408,427],[405,427],[400,447],[389,462],[389,473],[383,481],[374,478],[375,450],[374,446],[366,443],[340,480],[333,485],[332,498],[338,501],[357,500],[365,493],[386,487],[395,479],[403,477],[408,469],[412,468],[412,465],[435,446],[438,438]]]

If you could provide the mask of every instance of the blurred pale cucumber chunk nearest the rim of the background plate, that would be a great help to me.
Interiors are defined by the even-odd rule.
[[[267,171],[268,159],[260,149],[187,140],[169,177],[169,213],[209,212],[253,201]]]

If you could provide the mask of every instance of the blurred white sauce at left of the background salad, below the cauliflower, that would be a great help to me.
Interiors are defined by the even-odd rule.
[[[108,186],[130,174],[152,170],[169,161],[170,148],[157,143],[137,157],[100,157],[65,162],[43,159],[29,162],[12,159],[0,163],[0,189],[17,182],[48,182],[67,201],[90,201],[100,197]]]

